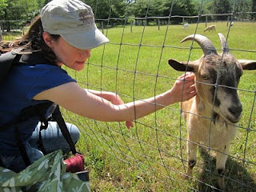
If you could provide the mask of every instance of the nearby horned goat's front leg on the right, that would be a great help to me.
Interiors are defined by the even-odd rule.
[[[230,145],[225,145],[222,147],[222,149],[219,150],[219,152],[216,152],[216,170],[218,171],[218,188],[224,189],[225,187],[225,181],[224,181],[224,175],[225,175],[225,166],[226,166],[226,159],[228,157],[230,150]]]

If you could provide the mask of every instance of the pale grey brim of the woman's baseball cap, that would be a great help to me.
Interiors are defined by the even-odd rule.
[[[93,49],[97,46],[101,46],[109,39],[97,28],[95,30],[89,30],[83,33],[74,34],[60,34],[62,38],[66,40],[71,46],[74,46],[81,50]]]

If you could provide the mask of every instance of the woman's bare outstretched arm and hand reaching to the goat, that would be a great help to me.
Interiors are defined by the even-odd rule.
[[[124,122],[142,118],[175,102],[188,100],[195,94],[194,74],[186,74],[186,77],[179,77],[174,86],[163,94],[124,104],[110,102],[107,98],[91,93],[90,90],[82,89],[75,82],[42,91],[34,99],[50,100],[86,118],[104,122]]]

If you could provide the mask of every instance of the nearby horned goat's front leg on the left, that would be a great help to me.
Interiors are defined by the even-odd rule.
[[[197,150],[198,146],[194,144],[193,142],[190,142],[189,140],[187,141],[187,161],[188,161],[188,166],[187,166],[187,176],[192,177],[192,171],[193,167],[195,166],[197,162]]]

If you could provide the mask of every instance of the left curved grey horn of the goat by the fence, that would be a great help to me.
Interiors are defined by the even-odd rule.
[[[193,39],[195,42],[198,43],[199,46],[201,46],[203,54],[205,55],[217,54],[214,44],[210,42],[209,38],[206,38],[201,34],[190,34],[189,36],[186,36],[186,38],[183,38],[181,42],[186,42],[188,40],[193,40]]]

